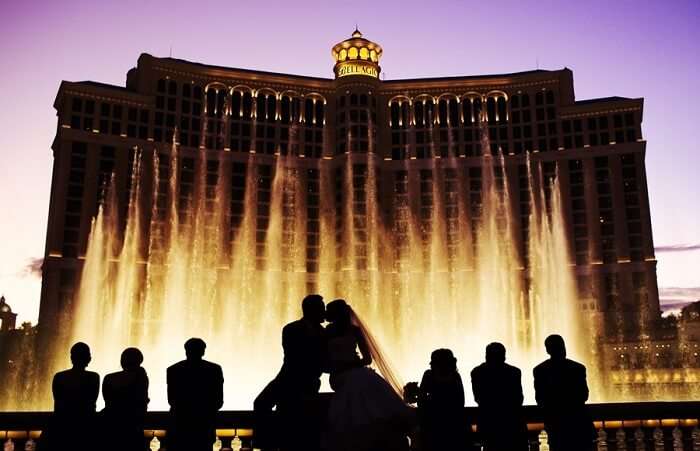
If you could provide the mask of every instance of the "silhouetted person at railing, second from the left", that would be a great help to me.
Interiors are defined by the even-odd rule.
[[[144,449],[144,416],[148,407],[148,376],[141,367],[143,354],[136,348],[122,352],[123,371],[102,382],[104,445],[112,451]]]

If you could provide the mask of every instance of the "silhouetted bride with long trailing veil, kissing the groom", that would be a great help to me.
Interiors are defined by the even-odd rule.
[[[407,450],[411,409],[403,402],[401,384],[377,342],[342,299],[326,306],[326,317],[330,383],[335,392],[329,406],[329,449]]]

